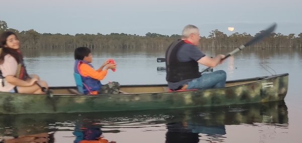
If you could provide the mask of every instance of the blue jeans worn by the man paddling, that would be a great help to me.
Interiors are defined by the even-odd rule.
[[[224,70],[217,70],[212,73],[202,74],[200,78],[193,79],[187,85],[188,89],[210,89],[223,88],[225,86],[226,73]]]

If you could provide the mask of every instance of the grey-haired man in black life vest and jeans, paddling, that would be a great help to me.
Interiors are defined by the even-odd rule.
[[[171,90],[209,89],[225,86],[226,73],[217,70],[200,74],[198,63],[215,67],[225,57],[218,54],[213,58],[198,49],[199,29],[187,25],[182,31],[182,39],[173,42],[166,51],[166,80]]]

